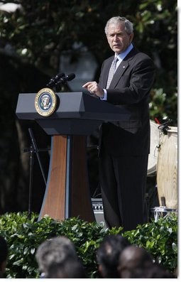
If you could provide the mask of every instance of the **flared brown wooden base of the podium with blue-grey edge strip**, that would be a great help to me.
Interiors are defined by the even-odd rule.
[[[86,136],[53,136],[48,182],[39,219],[78,217],[93,222],[87,173]]]

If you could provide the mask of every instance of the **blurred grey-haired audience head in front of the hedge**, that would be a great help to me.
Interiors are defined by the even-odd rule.
[[[71,272],[73,269],[72,261],[75,264],[77,263],[75,269],[76,267],[78,269],[78,257],[75,246],[67,237],[54,237],[46,240],[38,246],[35,257],[38,261],[38,268],[45,278],[49,276],[49,273],[51,278],[56,278],[53,277],[51,269],[56,269],[55,276],[60,275],[61,269],[62,273],[63,271],[65,273]],[[59,274],[57,271],[58,266],[60,266]]]

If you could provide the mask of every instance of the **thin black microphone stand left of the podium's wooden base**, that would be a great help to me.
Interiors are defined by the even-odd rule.
[[[41,164],[40,156],[39,156],[38,152],[39,151],[48,151],[48,149],[47,148],[45,148],[45,149],[38,149],[38,147],[36,145],[36,142],[35,142],[35,137],[33,136],[32,129],[29,128],[28,131],[29,131],[29,134],[31,136],[31,146],[30,146],[30,148],[24,149],[24,152],[25,153],[30,153],[30,182],[29,182],[29,197],[28,197],[28,219],[31,219],[34,153],[36,154],[36,156],[38,158],[38,163],[39,163],[39,166],[40,166],[40,170],[41,170],[41,173],[43,175],[43,179],[44,179],[44,182],[45,182],[45,185],[46,185],[47,182],[46,182],[46,178],[45,178],[45,173],[44,173],[43,166]]]

